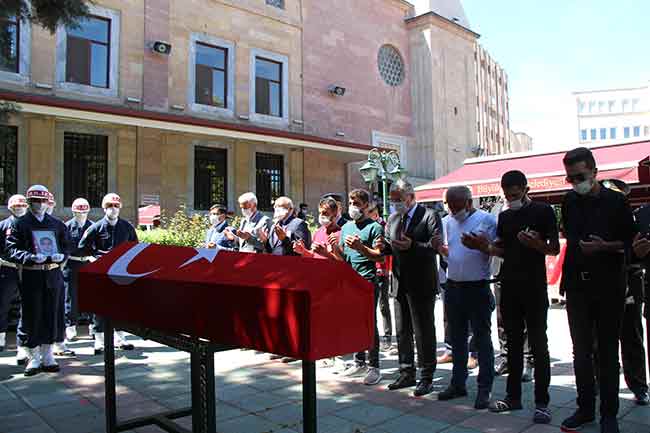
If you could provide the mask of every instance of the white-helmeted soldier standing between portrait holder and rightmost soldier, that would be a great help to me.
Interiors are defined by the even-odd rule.
[[[70,257],[63,269],[63,278],[65,280],[65,337],[67,341],[72,341],[77,337],[77,321],[79,320],[79,304],[77,302],[77,284],[79,269],[92,261],[94,257],[90,256],[87,251],[79,248],[79,241],[86,230],[93,225],[88,220],[90,213],[90,203],[85,198],[78,198],[72,202],[73,218],[65,223],[68,229],[68,236],[72,244]]]

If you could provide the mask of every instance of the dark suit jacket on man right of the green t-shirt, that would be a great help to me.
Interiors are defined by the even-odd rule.
[[[385,253],[393,256],[393,274],[399,282],[399,290],[409,293],[437,293],[437,252],[431,248],[430,241],[439,227],[440,219],[433,210],[416,206],[404,233],[413,240],[411,248],[407,251],[399,251],[391,247],[391,240],[400,238],[405,219],[405,215],[393,213],[386,225]]]

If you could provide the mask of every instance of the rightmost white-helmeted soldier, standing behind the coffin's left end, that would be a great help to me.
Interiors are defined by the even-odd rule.
[[[81,241],[79,249],[88,251],[93,257],[101,257],[110,250],[124,242],[137,242],[138,236],[135,228],[128,221],[120,218],[122,200],[115,193],[106,194],[102,200],[104,218],[94,223]],[[101,317],[94,318],[95,330],[95,355],[104,350],[104,321]],[[128,343],[123,331],[115,331],[115,346],[122,350],[133,350],[133,345]]]

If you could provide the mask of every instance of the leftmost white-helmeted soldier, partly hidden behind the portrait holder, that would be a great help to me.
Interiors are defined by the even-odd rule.
[[[9,325],[9,309],[11,302],[18,294],[18,272],[16,264],[5,260],[5,241],[11,233],[11,224],[16,218],[27,213],[27,199],[25,196],[16,194],[9,198],[7,208],[11,215],[0,222],[0,352],[7,344],[7,327]],[[24,359],[24,357],[21,357]]]

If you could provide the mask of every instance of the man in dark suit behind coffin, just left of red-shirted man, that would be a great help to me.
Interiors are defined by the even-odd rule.
[[[273,203],[273,225],[268,233],[262,234],[266,252],[275,256],[297,256],[293,243],[302,241],[306,249],[311,248],[311,233],[307,223],[294,214],[293,202],[289,197],[278,197]]]

